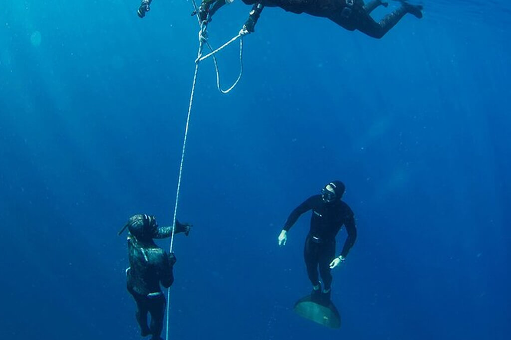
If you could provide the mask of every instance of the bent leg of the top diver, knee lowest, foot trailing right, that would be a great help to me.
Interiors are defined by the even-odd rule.
[[[357,17],[354,20],[356,20],[357,23],[357,30],[370,37],[380,39],[394,27],[406,13],[411,13],[417,18],[422,18],[421,10],[422,6],[420,5],[410,5],[403,2],[400,8],[385,15],[380,22],[376,22],[367,13],[357,13]]]

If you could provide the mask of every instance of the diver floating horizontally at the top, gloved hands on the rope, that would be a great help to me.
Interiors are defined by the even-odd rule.
[[[201,21],[210,21],[213,13],[223,6],[225,1],[204,0],[199,7]],[[422,18],[423,7],[421,5],[411,5],[404,0],[399,1],[401,2],[401,7],[387,14],[379,22],[376,22],[369,14],[380,5],[388,6],[388,3],[382,2],[382,0],[373,0],[368,4],[364,4],[363,0],[243,0],[245,4],[253,6],[240,34],[244,35],[254,32],[255,23],[257,23],[264,7],[280,7],[288,12],[297,14],[307,13],[313,16],[325,17],[346,30],[359,30],[370,37],[379,39],[407,13],[417,18]],[[213,3],[215,4],[210,10],[210,6]]]

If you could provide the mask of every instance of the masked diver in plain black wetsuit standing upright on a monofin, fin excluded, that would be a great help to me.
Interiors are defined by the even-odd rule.
[[[307,274],[313,289],[311,297],[323,304],[330,302],[332,274],[330,271],[343,262],[355,244],[357,228],[351,208],[341,201],[344,184],[333,181],[321,189],[321,195],[314,195],[300,204],[289,215],[284,228],[278,235],[278,245],[285,246],[287,233],[301,214],[312,210],[311,229],[305,240],[304,258]],[[342,226],[346,227],[347,238],[341,254],[335,257],[335,236]],[[321,293],[319,274],[324,283]]]

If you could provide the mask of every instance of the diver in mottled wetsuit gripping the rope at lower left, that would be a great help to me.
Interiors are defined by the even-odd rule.
[[[172,235],[172,227],[158,228],[154,216],[137,214],[131,216],[119,234],[128,228],[128,254],[130,267],[126,270],[128,292],[136,303],[135,318],[141,335],[152,335],[152,340],[161,340],[165,315],[165,296],[160,283],[169,288],[174,282],[172,268],[176,262],[173,253],[167,254],[159,248],[153,238],[166,238]],[[176,221],[175,233],[184,232],[188,236],[191,225]],[[147,313],[151,314],[151,324],[147,325]]]

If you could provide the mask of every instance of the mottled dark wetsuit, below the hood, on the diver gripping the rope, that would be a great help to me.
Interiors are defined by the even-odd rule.
[[[171,234],[172,227],[163,227],[153,237],[165,238]],[[128,254],[130,268],[126,273],[127,288],[136,302],[136,321],[143,336],[152,334],[152,339],[160,339],[165,315],[165,296],[160,283],[168,288],[174,282],[172,266],[175,258],[159,248],[152,239],[141,241],[133,235],[128,236]],[[151,314],[150,326],[147,325],[148,312]]]

